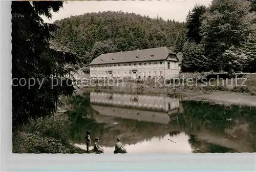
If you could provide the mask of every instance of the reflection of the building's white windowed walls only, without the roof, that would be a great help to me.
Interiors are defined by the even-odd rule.
[[[92,104],[130,107],[161,112],[172,112],[179,107],[179,99],[155,95],[91,92],[90,100]]]

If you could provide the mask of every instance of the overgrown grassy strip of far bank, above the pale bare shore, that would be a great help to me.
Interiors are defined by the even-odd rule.
[[[104,82],[96,81],[88,85],[82,90],[108,90],[122,93],[149,93],[149,94],[183,94],[197,93],[210,94],[216,91],[229,93],[244,93],[248,95],[256,95],[256,77],[255,75],[239,75],[239,78],[225,78],[210,80],[211,75],[181,75],[178,80],[158,80],[154,78],[146,80],[125,80],[124,82]],[[189,79],[188,79],[189,78]],[[205,79],[202,82],[202,79]],[[111,86],[110,86],[111,85]],[[113,86],[112,86],[113,85]],[[79,92],[79,91],[78,91]]]

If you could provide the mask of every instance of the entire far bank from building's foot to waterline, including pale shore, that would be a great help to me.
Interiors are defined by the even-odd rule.
[[[171,81],[171,85],[159,87],[155,85],[155,79],[147,80],[126,80],[123,83],[113,86],[104,86],[104,82],[100,81],[100,85],[89,85],[89,87],[83,87],[77,91],[76,94],[81,95],[84,92],[108,92],[108,93],[126,93],[126,94],[149,94],[149,95],[168,95],[170,97],[181,98],[183,100],[200,100],[209,101],[220,104],[237,104],[256,106],[256,75],[244,74],[239,75],[236,78],[215,79],[208,81],[208,85],[203,85],[200,82],[200,78],[209,78],[209,74],[185,74],[184,82],[181,82],[179,86],[173,87],[174,82]],[[181,78],[183,75],[181,75]],[[210,76],[212,77],[212,76]],[[186,84],[186,79],[192,78],[194,82]],[[199,80],[195,82],[195,80]],[[181,80],[182,81],[182,80]],[[160,81],[163,84],[163,81]],[[194,83],[194,85],[193,85]],[[113,83],[111,83],[113,84]],[[238,86],[236,86],[238,85]],[[244,86],[246,85],[246,86]]]

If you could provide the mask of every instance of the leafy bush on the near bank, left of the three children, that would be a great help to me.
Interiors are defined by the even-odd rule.
[[[13,153],[86,153],[70,143],[65,122],[56,117],[30,119],[13,133]]]

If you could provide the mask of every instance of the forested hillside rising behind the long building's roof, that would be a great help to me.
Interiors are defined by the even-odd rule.
[[[172,18],[172,16],[170,16]],[[85,64],[102,53],[168,47],[184,44],[185,24],[134,13],[99,12],[57,20],[60,29],[53,45],[71,51]]]

